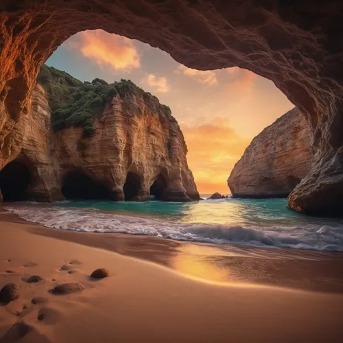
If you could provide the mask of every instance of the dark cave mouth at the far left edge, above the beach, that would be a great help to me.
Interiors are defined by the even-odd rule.
[[[15,159],[0,171],[0,189],[3,201],[25,200],[25,190],[31,181],[31,174],[24,163]]]

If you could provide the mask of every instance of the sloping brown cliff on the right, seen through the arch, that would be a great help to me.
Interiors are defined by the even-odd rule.
[[[265,128],[236,163],[228,187],[237,197],[287,197],[311,169],[309,123],[297,108]]]

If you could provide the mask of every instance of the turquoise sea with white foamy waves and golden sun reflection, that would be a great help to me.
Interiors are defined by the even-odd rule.
[[[5,209],[29,222],[64,230],[260,248],[343,251],[343,220],[300,215],[287,209],[285,199],[21,202],[8,204]]]

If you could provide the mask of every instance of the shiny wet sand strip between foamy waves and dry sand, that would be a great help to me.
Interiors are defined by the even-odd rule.
[[[34,235],[158,263],[202,282],[251,283],[343,294],[343,252],[176,241],[129,233],[89,233],[49,228],[7,210],[0,211],[0,223],[3,220],[22,224]]]

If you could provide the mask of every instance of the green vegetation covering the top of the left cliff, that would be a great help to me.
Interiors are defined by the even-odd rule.
[[[120,97],[140,95],[145,101],[154,103],[171,117],[168,106],[161,105],[154,95],[143,91],[131,80],[121,79],[120,82],[108,84],[104,80],[95,78],[92,82],[81,82],[65,71],[44,64],[40,67],[37,82],[47,92],[54,132],[64,128],[81,127],[82,137],[91,137],[94,134],[94,119],[102,116],[106,104],[116,95]]]

